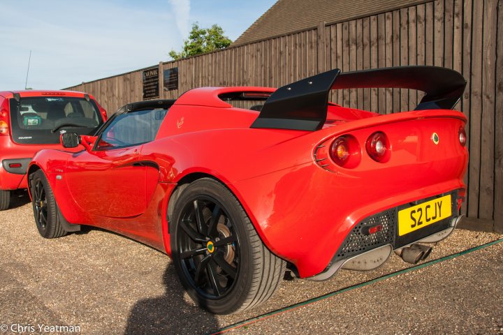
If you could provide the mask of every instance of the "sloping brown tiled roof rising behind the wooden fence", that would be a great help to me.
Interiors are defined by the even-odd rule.
[[[274,36],[404,8],[425,0],[278,0],[234,41],[243,45]]]

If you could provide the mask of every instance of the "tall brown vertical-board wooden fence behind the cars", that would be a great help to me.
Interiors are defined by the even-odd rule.
[[[470,218],[503,231],[503,0],[437,0],[347,22],[321,22],[226,50],[159,63],[161,98],[204,86],[279,87],[331,68],[342,71],[400,65],[458,70],[468,80],[457,108],[469,117]],[[164,69],[178,68],[179,87],[164,91]],[[142,69],[143,70],[143,69]],[[82,83],[113,112],[143,98],[142,70]],[[413,109],[416,91],[351,89],[332,101],[381,113]]]

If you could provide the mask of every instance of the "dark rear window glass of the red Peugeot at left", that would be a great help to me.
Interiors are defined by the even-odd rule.
[[[66,131],[94,135],[103,124],[94,101],[61,96],[10,99],[10,120],[20,144],[56,144]]]

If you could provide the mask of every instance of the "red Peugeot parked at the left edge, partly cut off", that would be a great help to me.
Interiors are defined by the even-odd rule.
[[[0,91],[0,210],[10,191],[27,188],[26,172],[36,151],[61,148],[59,136],[94,135],[106,111],[89,94],[73,91]]]

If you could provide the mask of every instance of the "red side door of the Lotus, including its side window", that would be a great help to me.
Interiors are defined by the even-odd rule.
[[[153,192],[152,183],[156,183],[152,167],[138,160],[142,145],[155,137],[149,131],[152,117],[148,110],[141,110],[112,118],[92,150],[68,159],[66,182],[75,202],[90,214],[138,216],[145,212],[147,198],[152,198],[147,193]]]

